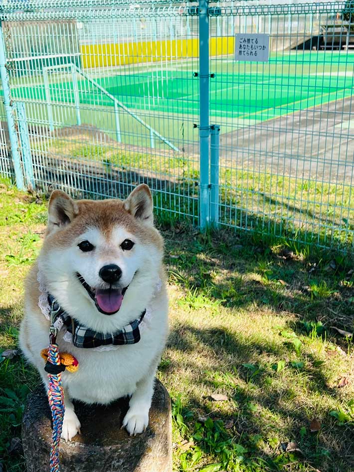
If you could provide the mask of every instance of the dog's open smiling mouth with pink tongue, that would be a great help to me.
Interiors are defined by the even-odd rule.
[[[114,315],[121,308],[124,294],[128,287],[118,289],[110,287],[109,289],[94,289],[88,285],[81,274],[76,272],[76,277],[79,282],[89,294],[91,299],[95,302],[96,308],[104,315]]]

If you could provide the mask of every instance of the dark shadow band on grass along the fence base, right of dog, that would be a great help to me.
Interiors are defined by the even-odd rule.
[[[270,309],[291,318],[296,331],[303,326],[294,316],[353,328],[354,266],[349,257],[332,269],[329,252],[285,259],[270,246],[225,231],[191,237],[190,229],[182,228],[172,237],[167,231],[165,240],[171,278],[194,299],[204,297],[216,307]],[[182,303],[188,305],[188,300]]]

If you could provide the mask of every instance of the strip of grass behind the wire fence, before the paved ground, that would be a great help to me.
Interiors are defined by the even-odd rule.
[[[196,156],[171,151],[147,154],[137,147],[120,148],[113,141],[93,143],[88,133],[79,133],[51,140],[47,152],[50,157],[67,159],[68,164],[95,161],[110,178],[122,182],[139,178],[151,181],[160,213],[167,219],[184,215],[195,220],[199,181]],[[349,184],[310,178],[299,181],[266,169],[255,172],[222,158],[219,182],[222,225],[251,230],[263,240],[268,237],[290,244],[295,252],[311,244],[349,250],[353,246],[354,200]]]

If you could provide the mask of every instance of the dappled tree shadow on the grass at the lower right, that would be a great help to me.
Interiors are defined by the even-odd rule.
[[[197,339],[198,345],[193,343],[193,339]],[[269,469],[264,468],[265,471],[305,470],[302,464],[310,464],[306,470],[312,470],[311,467],[328,472],[353,470],[353,429],[350,425],[338,426],[334,418],[329,416],[331,409],[325,402],[316,405],[315,411],[311,410],[301,391],[306,382],[311,392],[318,392],[320,396],[328,398],[331,396],[331,392],[326,389],[321,367],[296,371],[297,375],[282,382],[279,388],[278,374],[270,366],[263,366],[259,373],[250,375],[249,369],[242,365],[256,363],[258,355],[262,353],[284,357],[286,348],[275,347],[266,339],[256,342],[222,328],[198,329],[183,324],[172,331],[168,346],[182,354],[186,353],[183,366],[191,372],[190,375],[195,373],[201,394],[188,397],[188,408],[192,408],[194,420],[207,416],[214,421],[221,420],[224,424],[231,421],[234,426],[228,430],[228,435],[233,438],[233,442],[247,449],[246,463],[264,460],[269,466]],[[192,360],[193,351],[205,352],[207,355],[210,350],[216,355],[207,362],[205,371],[200,372],[200,367]],[[175,369],[178,366],[171,365],[165,375],[174,375]],[[223,377],[225,372],[229,375]],[[208,394],[215,390],[226,391],[231,406],[222,408],[219,403],[209,401]],[[318,411],[320,406],[323,407],[322,411]],[[310,433],[309,423],[316,415],[321,415],[322,428],[318,433]],[[190,428],[194,429],[195,426],[190,424]],[[301,428],[305,428],[302,435]],[[284,454],[280,442],[289,441],[297,442],[303,454]],[[204,437],[197,439],[196,444],[206,453],[212,452],[205,431]],[[291,463],[293,468],[282,468]]]

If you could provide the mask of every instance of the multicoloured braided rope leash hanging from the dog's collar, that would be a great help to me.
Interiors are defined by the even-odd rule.
[[[50,448],[50,472],[60,472],[59,444],[64,419],[64,392],[61,386],[61,373],[65,366],[61,365],[58,345],[56,343],[57,330],[50,326],[48,360],[45,371],[48,372],[48,401],[53,419],[52,444]]]

